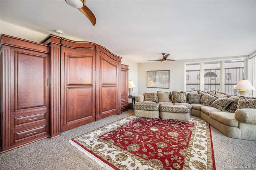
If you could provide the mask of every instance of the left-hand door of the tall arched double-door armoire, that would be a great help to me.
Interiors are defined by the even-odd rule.
[[[61,131],[67,131],[95,121],[96,51],[61,51]]]

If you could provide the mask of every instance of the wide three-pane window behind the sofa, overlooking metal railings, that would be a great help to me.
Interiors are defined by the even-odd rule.
[[[238,94],[234,86],[244,78],[244,59],[228,60],[224,63],[224,92]],[[204,89],[200,89],[200,63],[186,64],[186,91],[220,91],[220,62],[204,63]]]

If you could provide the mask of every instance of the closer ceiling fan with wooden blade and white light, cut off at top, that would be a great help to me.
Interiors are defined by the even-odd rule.
[[[79,11],[81,11],[92,23],[94,26],[96,24],[96,18],[94,14],[92,13],[87,6],[85,6],[86,0],[66,0],[67,4],[77,8]]]

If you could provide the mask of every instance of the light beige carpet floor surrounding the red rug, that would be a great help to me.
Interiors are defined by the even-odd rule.
[[[60,137],[43,139],[0,154],[0,170],[104,170],[68,141],[132,114],[131,109],[121,115],[113,115],[66,131]],[[238,170],[245,166],[256,169],[256,141],[232,139],[213,127],[211,131],[217,170]]]

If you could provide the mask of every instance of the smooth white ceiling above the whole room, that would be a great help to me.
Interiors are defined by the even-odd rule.
[[[91,41],[137,63],[256,51],[255,0],[86,0],[90,21],[65,0],[0,0],[0,20],[44,34]]]

